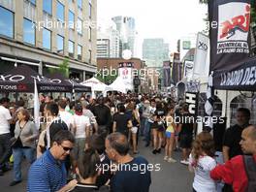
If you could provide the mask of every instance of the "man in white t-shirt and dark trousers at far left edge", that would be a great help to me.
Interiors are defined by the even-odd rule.
[[[0,176],[3,176],[3,168],[12,154],[10,144],[10,121],[12,116],[7,109],[9,102],[8,98],[0,100]]]

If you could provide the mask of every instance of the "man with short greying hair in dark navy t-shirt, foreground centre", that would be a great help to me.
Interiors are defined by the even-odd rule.
[[[111,180],[112,192],[148,192],[151,175],[148,162],[144,157],[132,157],[129,152],[127,138],[116,132],[109,135],[105,141],[106,152],[116,163],[115,174]]]

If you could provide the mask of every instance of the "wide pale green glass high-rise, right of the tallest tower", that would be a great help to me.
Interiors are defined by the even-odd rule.
[[[169,44],[161,38],[144,39],[143,58],[148,67],[162,68],[163,61],[169,60]]]

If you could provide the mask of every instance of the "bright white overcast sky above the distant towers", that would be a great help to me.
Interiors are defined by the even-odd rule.
[[[197,33],[206,28],[203,18],[207,5],[199,0],[98,0],[98,25],[108,22],[112,16],[135,18],[139,47],[144,38],[163,38],[176,50],[180,37]],[[141,55],[139,48],[139,55]]]

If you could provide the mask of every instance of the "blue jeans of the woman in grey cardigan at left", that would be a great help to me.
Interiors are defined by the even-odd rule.
[[[14,177],[16,181],[21,180],[21,162],[23,157],[25,156],[26,159],[32,164],[35,161],[35,148],[13,148],[13,155],[14,155]]]

